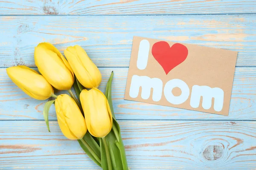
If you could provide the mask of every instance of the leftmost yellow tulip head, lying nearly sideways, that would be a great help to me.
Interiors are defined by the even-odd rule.
[[[8,76],[22,91],[34,99],[45,100],[53,94],[53,88],[37,71],[24,65],[6,68]]]

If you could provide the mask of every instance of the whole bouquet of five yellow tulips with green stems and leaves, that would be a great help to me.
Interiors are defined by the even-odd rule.
[[[85,153],[103,170],[128,170],[119,124],[111,99],[113,71],[105,95],[98,90],[102,80],[96,65],[79,45],[68,47],[64,56],[48,42],[35,48],[37,71],[23,65],[7,68],[12,81],[34,99],[49,100],[44,119],[49,128],[49,108],[55,104],[58,125],[68,139],[78,140]],[[76,91],[76,98],[71,88]],[[55,95],[54,88],[68,91]],[[90,89],[90,90],[88,90]]]

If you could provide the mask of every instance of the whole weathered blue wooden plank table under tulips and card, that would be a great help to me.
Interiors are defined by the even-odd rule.
[[[124,100],[133,36],[239,51],[229,116]],[[131,170],[256,169],[255,0],[0,1],[0,169],[99,169],[66,139],[50,109],[24,94],[6,68],[34,68],[34,48],[81,45],[114,71],[113,106]]]

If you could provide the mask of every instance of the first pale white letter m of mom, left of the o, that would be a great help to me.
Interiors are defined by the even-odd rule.
[[[141,98],[148,99],[151,93],[151,88],[153,88],[152,99],[158,102],[162,97],[163,82],[158,78],[149,78],[147,76],[133,75],[131,78],[131,86],[129,95],[132,98],[136,98],[139,95],[140,87]]]

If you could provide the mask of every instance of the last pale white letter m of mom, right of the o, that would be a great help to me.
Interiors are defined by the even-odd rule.
[[[214,110],[221,111],[224,102],[224,91],[221,88],[210,88],[209,86],[194,85],[192,87],[190,105],[192,108],[198,108],[200,98],[203,97],[202,106],[204,109],[212,107],[212,98],[214,98]]]

